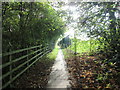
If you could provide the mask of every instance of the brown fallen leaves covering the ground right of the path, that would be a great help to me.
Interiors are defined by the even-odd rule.
[[[102,55],[69,57],[66,59],[72,88],[112,89],[120,88],[120,68],[101,62]],[[118,71],[117,71],[118,70]]]

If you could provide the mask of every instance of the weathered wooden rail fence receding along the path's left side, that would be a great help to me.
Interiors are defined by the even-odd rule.
[[[35,50],[33,50],[33,49],[35,49]],[[23,51],[27,52],[26,55],[15,58],[14,60],[12,59],[12,57],[14,57],[14,54],[19,54],[19,53],[22,53]],[[33,64],[35,64],[41,57],[48,54],[49,52],[51,52],[51,50],[48,48],[48,45],[44,46],[44,47],[42,45],[38,45],[38,46],[24,48],[24,49],[11,51],[11,52],[2,54],[2,57],[9,57],[9,61],[0,65],[0,69],[4,70],[5,68],[7,68],[7,69],[9,68],[9,70],[5,73],[3,72],[4,74],[2,76],[0,76],[0,80],[4,80],[6,77],[9,77],[9,80],[5,81],[1,88],[4,89],[7,86],[11,85],[14,80],[16,80],[21,74],[23,74]],[[29,58],[29,56],[31,56],[31,57]],[[12,67],[13,64],[16,64],[20,60],[24,60],[24,62],[22,62],[21,64],[19,64],[13,68]],[[23,66],[25,66],[24,69],[22,68]],[[19,69],[20,69],[20,72],[17,73],[16,75],[13,75],[13,73],[15,73]]]

